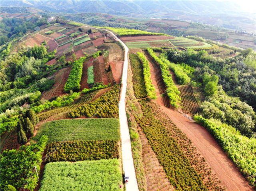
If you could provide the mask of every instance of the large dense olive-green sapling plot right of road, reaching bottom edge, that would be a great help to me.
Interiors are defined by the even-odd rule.
[[[143,117],[136,121],[142,128],[170,183],[176,190],[208,190],[192,163],[171,136],[168,129],[152,114],[148,100],[140,100]]]

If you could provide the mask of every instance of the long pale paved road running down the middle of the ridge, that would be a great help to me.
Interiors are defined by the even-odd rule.
[[[86,26],[88,27],[88,26]],[[89,27],[93,28],[93,27]],[[97,29],[97,28],[95,28]],[[106,30],[108,31],[108,30]],[[123,161],[123,169],[125,172],[129,174],[129,181],[126,184],[126,191],[139,191],[138,183],[136,179],[136,173],[132,158],[132,145],[130,140],[130,133],[128,127],[128,121],[126,116],[125,109],[125,96],[126,96],[126,87],[127,87],[127,74],[128,74],[128,47],[111,31],[108,31],[114,38],[119,41],[125,49],[124,52],[124,67],[122,74],[122,87],[121,87],[121,96],[119,102],[119,120],[120,120],[120,132],[121,132],[121,140],[122,140],[122,161]]]

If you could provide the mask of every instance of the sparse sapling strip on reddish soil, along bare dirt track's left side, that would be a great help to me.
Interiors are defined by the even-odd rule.
[[[164,112],[162,112],[159,105],[153,102],[149,102],[148,105],[152,110],[153,116],[160,120],[163,126],[168,129],[168,135],[178,143],[184,152],[184,155],[188,158],[196,172],[199,174],[208,190],[224,190],[224,187],[216,177],[216,174],[212,173],[212,170],[209,168],[206,160],[200,155],[186,134],[184,134]]]

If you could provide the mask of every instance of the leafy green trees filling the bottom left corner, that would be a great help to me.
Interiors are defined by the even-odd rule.
[[[36,171],[31,171],[36,166],[40,173],[42,154],[44,152],[48,138],[43,136],[36,144],[20,146],[18,150],[4,150],[1,154],[1,188],[6,185],[13,185],[20,189],[28,174],[31,176],[26,179],[27,184],[24,188],[33,190],[38,182]]]

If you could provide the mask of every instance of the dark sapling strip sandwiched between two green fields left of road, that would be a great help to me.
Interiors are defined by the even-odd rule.
[[[118,151],[117,140],[54,142],[48,145],[46,162],[113,159],[119,158]]]

